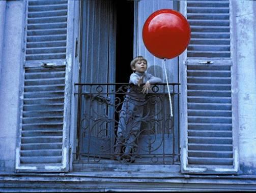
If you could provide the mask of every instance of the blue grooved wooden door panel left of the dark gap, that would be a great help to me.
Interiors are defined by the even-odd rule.
[[[113,20],[112,1],[84,1],[82,15],[82,62],[81,62],[81,83],[113,83],[115,82],[115,20]],[[91,90],[92,89],[92,90]],[[97,87],[84,88],[84,92],[97,93]],[[103,93],[110,89],[102,86]],[[111,88],[115,89],[115,88]],[[101,95],[108,97],[107,95]],[[91,98],[82,98],[81,115],[90,115],[99,119],[100,115],[112,114],[111,109],[106,105],[100,105]],[[97,113],[96,113],[97,112]],[[94,124],[93,121],[83,121],[81,128],[89,127],[91,132],[81,130],[80,152],[98,153],[100,146],[105,141],[113,138],[112,124]],[[103,131],[104,130],[104,131]],[[110,131],[111,130],[111,131]],[[87,134],[85,133],[87,132]],[[90,135],[90,136],[89,136]],[[113,140],[112,140],[113,143]],[[106,144],[105,144],[106,145]],[[106,145],[109,147],[109,145]],[[109,150],[106,152],[109,153]],[[109,157],[109,156],[108,156]]]

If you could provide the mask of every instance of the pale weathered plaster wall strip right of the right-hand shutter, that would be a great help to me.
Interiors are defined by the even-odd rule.
[[[239,157],[241,170],[256,173],[256,2],[236,7]]]

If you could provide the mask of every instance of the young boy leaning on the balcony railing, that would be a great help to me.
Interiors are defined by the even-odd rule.
[[[130,76],[129,83],[134,86],[128,89],[128,94],[125,96],[120,112],[115,145],[115,154],[118,160],[121,158],[132,160],[130,153],[137,150],[136,139],[143,118],[143,107],[147,103],[145,94],[148,94],[151,90],[151,84],[162,82],[160,78],[146,73],[147,60],[143,56],[137,56],[131,61],[131,69],[133,73]],[[141,87],[143,84],[145,85]],[[122,149],[123,146],[124,149]],[[124,151],[123,156],[121,156],[122,150]]]

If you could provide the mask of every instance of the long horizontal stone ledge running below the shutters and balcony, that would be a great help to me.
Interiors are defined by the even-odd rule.
[[[0,173],[0,191],[256,190],[256,175],[138,172]]]

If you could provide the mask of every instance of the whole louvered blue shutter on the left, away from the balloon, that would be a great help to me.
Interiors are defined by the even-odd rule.
[[[68,170],[69,6],[68,1],[26,2],[17,172]]]

